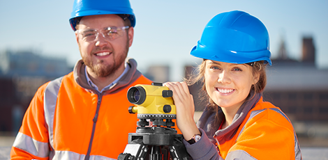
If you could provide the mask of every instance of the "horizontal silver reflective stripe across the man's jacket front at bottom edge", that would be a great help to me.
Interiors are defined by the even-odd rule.
[[[80,159],[83,160],[85,154],[78,154],[70,151],[55,151],[53,159]],[[91,155],[89,160],[114,160],[108,157]]]

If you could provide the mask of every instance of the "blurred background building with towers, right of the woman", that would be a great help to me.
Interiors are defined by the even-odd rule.
[[[302,43],[301,61],[288,58],[280,48],[278,58],[267,67],[264,97],[292,120],[328,122],[328,69],[315,67],[313,38],[306,36]]]

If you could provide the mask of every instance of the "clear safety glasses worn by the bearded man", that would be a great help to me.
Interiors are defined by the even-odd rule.
[[[108,28],[116,28],[116,29],[121,29],[121,31],[125,31],[126,29],[130,29],[130,26],[107,26],[103,29],[77,29],[75,31],[75,33],[82,35],[83,31],[95,31],[96,32],[96,37],[94,38],[94,40],[86,40],[86,39],[84,39],[85,36],[82,35],[82,40],[84,40],[86,42],[95,42],[98,39],[99,33],[101,33],[101,35],[103,35],[103,38],[105,38],[106,40],[114,40],[114,39],[117,39],[117,38],[120,38],[121,36],[123,36],[123,34],[122,34],[122,35],[119,35],[119,37],[116,37],[116,38],[106,38],[105,37],[106,35],[103,33],[103,31],[108,30]]]

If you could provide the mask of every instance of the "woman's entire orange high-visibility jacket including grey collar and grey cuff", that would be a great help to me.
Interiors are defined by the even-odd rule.
[[[213,123],[217,120],[215,113],[205,109],[201,122],[198,121],[204,122],[200,125],[202,138],[193,145],[184,142],[193,159],[301,159],[297,136],[288,117],[278,107],[263,102],[259,95],[258,101],[250,106],[237,112],[230,129],[222,130]],[[223,113],[221,120],[222,116]],[[239,117],[240,123],[233,126]]]

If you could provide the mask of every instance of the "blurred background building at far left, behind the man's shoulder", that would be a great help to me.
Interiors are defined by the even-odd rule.
[[[0,52],[0,131],[18,131],[36,90],[71,70],[64,58],[31,51]]]

